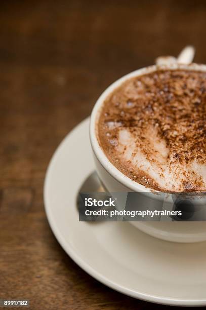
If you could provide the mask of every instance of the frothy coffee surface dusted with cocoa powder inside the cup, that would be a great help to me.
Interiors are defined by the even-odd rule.
[[[146,187],[206,191],[206,72],[163,70],[131,78],[100,111],[109,161]]]

